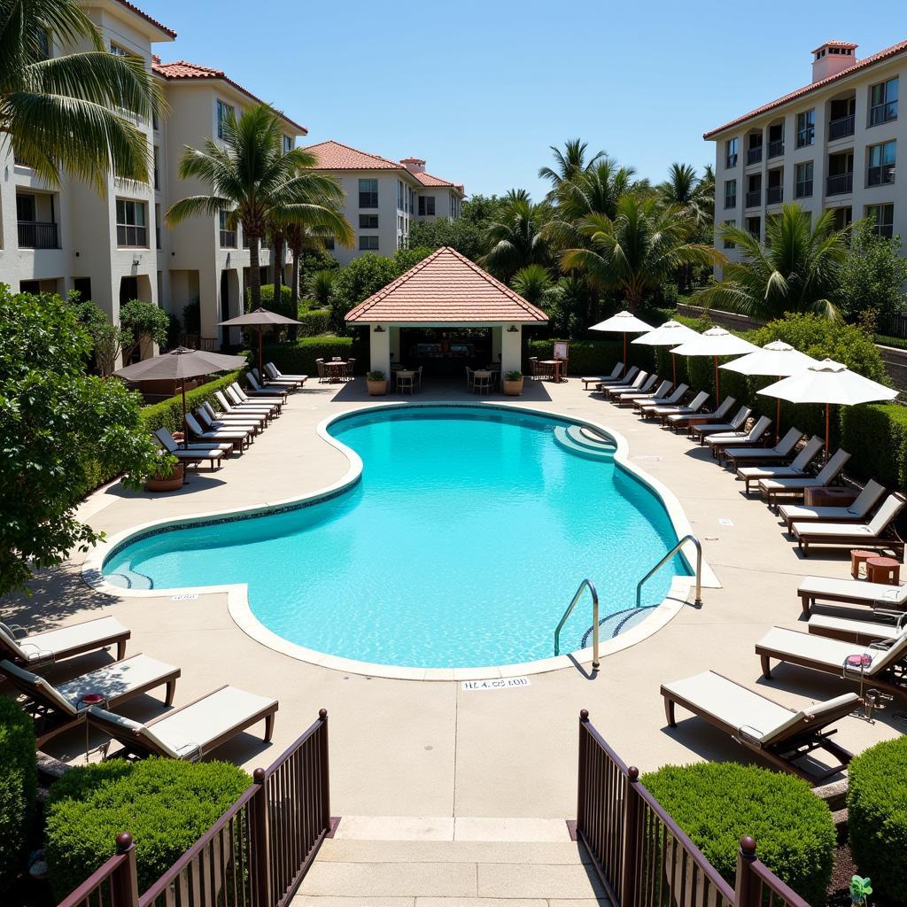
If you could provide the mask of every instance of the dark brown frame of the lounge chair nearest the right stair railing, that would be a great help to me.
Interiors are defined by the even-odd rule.
[[[724,675],[718,676],[724,677]],[[724,679],[727,680],[729,678]],[[735,682],[736,681],[733,680],[731,681],[731,683]],[[720,718],[702,711],[688,699],[678,696],[676,693],[673,693],[664,687],[661,688],[661,695],[665,700],[665,718],[668,721],[668,727],[677,727],[677,721],[674,716],[674,707],[681,706],[686,708],[688,712],[692,712],[697,717],[703,718],[710,725],[724,731],[727,736],[730,736],[736,743],[741,746],[746,746],[747,749],[752,750],[754,753],[764,756],[773,766],[775,766],[775,768],[780,768],[793,775],[799,775],[812,785],[817,785],[826,778],[837,775],[842,769],[846,768],[851,759],[853,759],[853,753],[844,749],[844,746],[839,746],[834,743],[833,740],[829,739],[829,737],[835,733],[834,730],[814,730],[809,727],[809,725],[804,724],[796,731],[792,728],[791,736],[785,736],[784,739],[777,740],[770,744],[760,744],[755,737],[741,734],[740,728],[732,727],[727,724],[726,721],[722,721]],[[841,714],[834,712],[831,717],[826,717],[824,720],[824,727],[831,724],[833,721],[837,721],[839,718],[850,715],[851,712],[853,712],[853,702],[847,703],[846,707],[842,706]],[[832,766],[819,775],[814,775],[800,766],[795,765],[796,759],[808,756],[817,749],[824,750],[830,756],[839,759],[839,764]]]

